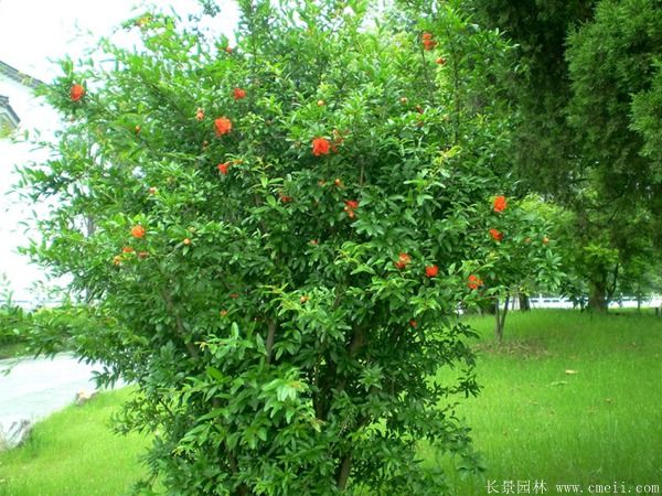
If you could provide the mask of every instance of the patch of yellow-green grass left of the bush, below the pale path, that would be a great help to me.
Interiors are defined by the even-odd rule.
[[[119,496],[146,473],[147,438],[117,435],[110,416],[129,395],[106,392],[34,425],[21,448],[0,454],[0,496]]]

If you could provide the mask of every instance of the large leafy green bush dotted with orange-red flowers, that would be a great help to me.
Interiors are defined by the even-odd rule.
[[[511,250],[549,259],[495,173],[506,46],[448,6],[241,7],[236,43],[147,13],[143,47],[64,62],[32,252],[88,303],[76,352],[137,385],[122,429],[169,494],[438,495],[419,442],[471,465],[457,309]]]

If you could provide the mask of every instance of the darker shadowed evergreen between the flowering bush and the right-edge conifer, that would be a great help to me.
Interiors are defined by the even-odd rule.
[[[510,153],[524,192],[573,198],[579,164],[565,112],[572,98],[565,44],[568,30],[589,20],[595,4],[596,0],[466,4],[479,23],[499,29],[516,45],[514,71],[501,84],[516,112]]]

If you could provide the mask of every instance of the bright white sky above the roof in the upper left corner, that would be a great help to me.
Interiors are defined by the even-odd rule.
[[[149,3],[163,10],[172,6],[182,14],[199,10],[196,0]],[[132,8],[142,4],[141,0],[0,0],[0,61],[49,82],[58,74],[49,60],[68,54],[75,61],[95,39],[140,13]],[[220,4],[223,13],[211,22],[214,31],[231,34],[236,8],[231,0]]]

